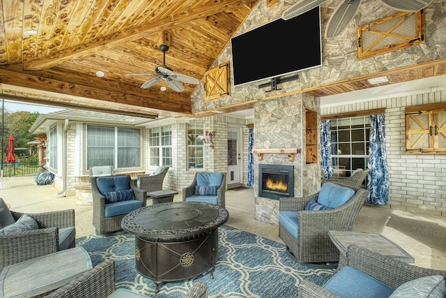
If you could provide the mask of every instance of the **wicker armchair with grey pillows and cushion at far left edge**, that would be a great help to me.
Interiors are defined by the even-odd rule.
[[[33,227],[22,224],[23,220],[28,221],[27,216],[35,221]],[[6,266],[76,245],[74,209],[24,214],[10,211],[0,198],[0,221],[0,271]],[[18,230],[4,230],[10,230],[15,223],[20,225]]]

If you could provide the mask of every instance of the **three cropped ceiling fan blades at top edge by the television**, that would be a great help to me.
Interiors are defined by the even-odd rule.
[[[325,31],[325,37],[337,36],[347,27],[348,23],[353,20],[353,17],[355,17],[357,8],[360,5],[360,1],[361,0],[342,0],[339,3],[336,10],[334,10],[334,13],[330,17],[330,20],[328,21],[327,29]],[[396,10],[415,12],[421,10],[422,8],[425,8],[426,6],[429,6],[429,4],[433,0],[380,1]],[[325,0],[300,0],[293,6],[284,10],[284,12],[282,13],[282,19],[289,20],[291,19],[291,17],[306,13],[308,10],[312,10],[323,2],[325,2]]]

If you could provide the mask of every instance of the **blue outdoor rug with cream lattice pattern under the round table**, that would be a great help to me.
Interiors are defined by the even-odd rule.
[[[134,260],[134,236],[91,235],[76,240],[91,256],[93,266],[111,258],[116,267],[116,288],[127,288],[149,297],[183,297],[194,283],[208,285],[208,296],[215,297],[298,297],[298,285],[306,279],[322,285],[333,269],[313,269],[301,265],[284,244],[244,232],[228,225],[219,228],[219,254],[214,278],[209,274],[187,281],[162,283],[155,295],[155,284],[141,276]]]

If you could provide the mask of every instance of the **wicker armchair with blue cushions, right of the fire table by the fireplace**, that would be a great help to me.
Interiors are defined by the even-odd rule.
[[[346,202],[337,206],[341,191],[348,192],[348,197]],[[317,208],[323,195],[332,195],[328,200],[332,200],[334,208]],[[362,188],[330,183],[323,184],[320,192],[308,197],[280,198],[279,237],[301,263],[338,262],[339,251],[330,240],[328,231],[351,230],[367,195],[369,191]],[[313,204],[309,204],[310,201]],[[308,209],[310,205],[316,208]]]

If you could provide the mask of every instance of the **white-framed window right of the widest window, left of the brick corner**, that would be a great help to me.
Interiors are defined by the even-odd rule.
[[[151,128],[148,137],[150,147],[150,165],[172,165],[172,129],[171,126]]]

